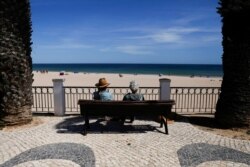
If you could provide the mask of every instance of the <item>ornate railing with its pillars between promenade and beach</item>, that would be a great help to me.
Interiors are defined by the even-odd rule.
[[[59,88],[55,87],[56,84],[54,87],[32,88],[34,113],[79,114],[78,100],[93,99],[93,93],[96,91],[95,87],[63,87],[60,84]],[[143,94],[146,100],[166,100],[170,97],[176,102],[172,108],[173,112],[206,114],[215,112],[220,87],[168,87],[166,83],[160,84],[160,87],[140,87],[139,93]],[[130,92],[128,87],[109,87],[108,90],[113,94],[114,100],[122,100],[123,96]]]

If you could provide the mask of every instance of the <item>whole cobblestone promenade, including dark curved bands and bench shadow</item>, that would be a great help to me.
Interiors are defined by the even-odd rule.
[[[39,117],[44,123],[0,131],[0,167],[250,166],[250,141],[205,132],[190,123],[133,124],[92,120],[81,134],[81,117]],[[155,128],[157,127],[157,128]]]

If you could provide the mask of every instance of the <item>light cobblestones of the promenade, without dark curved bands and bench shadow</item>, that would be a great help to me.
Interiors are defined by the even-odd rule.
[[[101,133],[98,131],[100,129],[97,129],[94,132],[89,132],[87,136],[83,136],[79,131],[82,128],[83,121],[74,124],[75,117],[39,118],[43,120],[43,124],[11,132],[0,131],[0,166],[22,152],[55,143],[86,145],[93,151],[95,166],[98,167],[180,166],[177,151],[183,146],[195,143],[220,145],[250,154],[250,141],[235,140],[205,132],[195,128],[188,122],[169,124],[169,135],[158,131],[144,131],[144,129],[143,132],[140,132],[139,129],[133,133],[110,132],[108,129]],[[65,122],[67,119],[72,119],[72,121]],[[76,119],[76,121],[79,121],[79,119]],[[159,127],[158,123],[141,120],[135,120],[133,125]],[[69,127],[73,128],[73,130],[70,130]],[[159,130],[164,132],[164,128]],[[220,165],[246,166],[246,164],[227,161],[203,162],[198,166]],[[16,167],[27,166],[78,167],[79,165],[70,160],[58,159],[34,160],[16,165]]]

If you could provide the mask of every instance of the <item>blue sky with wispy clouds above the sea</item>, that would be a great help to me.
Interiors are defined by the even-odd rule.
[[[221,64],[217,0],[30,0],[33,63]]]

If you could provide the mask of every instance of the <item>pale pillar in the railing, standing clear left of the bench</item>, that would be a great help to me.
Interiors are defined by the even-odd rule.
[[[54,92],[54,111],[55,115],[63,116],[65,114],[65,94],[63,89],[64,79],[53,79]]]

